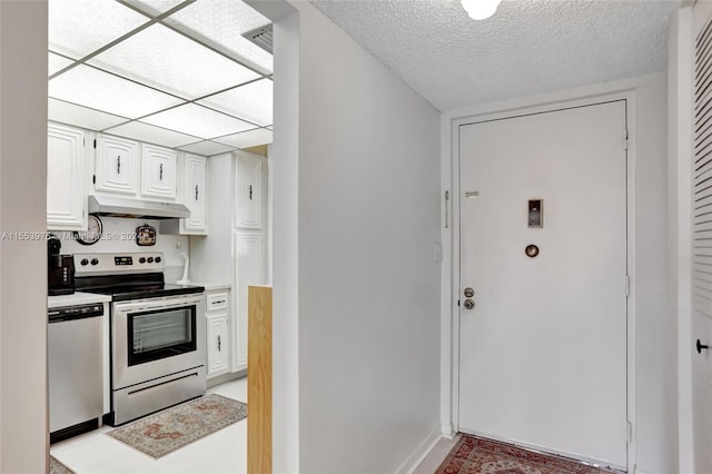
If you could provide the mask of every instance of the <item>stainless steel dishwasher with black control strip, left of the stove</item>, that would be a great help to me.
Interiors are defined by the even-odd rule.
[[[101,303],[47,312],[50,443],[99,427],[103,414],[103,312]]]

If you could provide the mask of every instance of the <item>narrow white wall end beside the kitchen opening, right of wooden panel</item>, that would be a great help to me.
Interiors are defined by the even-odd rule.
[[[299,471],[299,16],[275,20],[273,179],[273,468]],[[265,13],[267,14],[267,13]],[[275,14],[273,12],[273,14]]]

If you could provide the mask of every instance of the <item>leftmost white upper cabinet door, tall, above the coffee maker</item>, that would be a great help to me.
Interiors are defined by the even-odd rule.
[[[50,124],[47,127],[47,228],[87,227],[85,132]]]

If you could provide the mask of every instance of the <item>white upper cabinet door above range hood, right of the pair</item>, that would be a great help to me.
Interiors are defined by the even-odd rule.
[[[176,152],[144,145],[141,152],[141,196],[176,199]]]

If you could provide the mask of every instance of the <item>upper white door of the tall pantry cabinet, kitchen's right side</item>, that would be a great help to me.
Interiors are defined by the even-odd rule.
[[[237,156],[237,196],[235,227],[260,229],[263,227],[263,159],[256,156]]]

